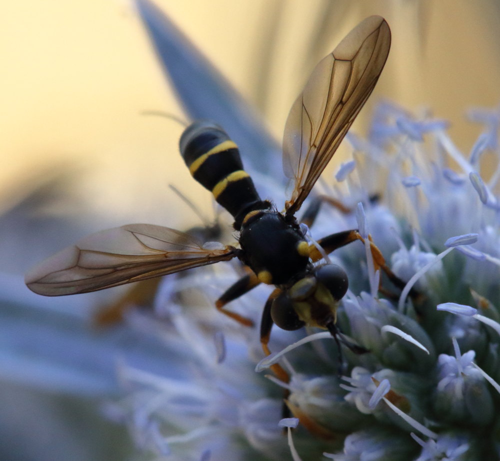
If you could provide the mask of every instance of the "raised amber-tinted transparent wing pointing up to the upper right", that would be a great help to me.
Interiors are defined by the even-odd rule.
[[[359,23],[312,71],[293,103],[283,136],[283,169],[294,181],[295,213],[335,153],[383,69],[390,48],[385,19]]]

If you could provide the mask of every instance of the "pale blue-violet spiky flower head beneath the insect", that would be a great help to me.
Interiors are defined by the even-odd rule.
[[[338,331],[273,328],[275,354],[264,357],[257,328],[210,306],[242,274],[236,262],[167,277],[156,314],[129,320],[149,317],[150,331],[180,351],[169,360],[182,372],[173,380],[167,370],[157,377],[123,366],[130,391],[117,405],[135,439],[172,459],[498,459],[493,112],[468,156],[446,122],[389,103],[376,109],[368,139],[349,133],[353,159],[335,182],[316,185],[342,206],[323,204],[306,235],[359,229],[362,241],[324,255],[349,278],[335,307]],[[485,151],[496,160],[487,179]],[[280,188],[274,170],[266,176],[254,164],[257,183]],[[259,286],[227,308],[258,325],[270,291]]]

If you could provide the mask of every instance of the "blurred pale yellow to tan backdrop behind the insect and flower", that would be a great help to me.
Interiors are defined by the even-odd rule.
[[[480,127],[465,121],[465,110],[498,104],[496,1],[156,4],[262,111],[277,139],[315,62],[369,14],[389,22],[392,49],[362,119],[380,98],[410,110],[427,107],[452,123],[452,137],[467,152]],[[194,181],[177,151],[182,127],[140,115],[182,113],[132,3],[4,2],[0,43],[1,210],[59,171],[70,172],[72,192],[107,226],[195,222],[171,211],[185,207],[168,183],[211,206],[208,193],[191,190]],[[354,129],[363,133],[359,123]]]

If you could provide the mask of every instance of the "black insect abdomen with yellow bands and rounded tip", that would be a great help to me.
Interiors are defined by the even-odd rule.
[[[192,123],[182,133],[179,145],[192,177],[231,213],[236,230],[248,211],[268,208],[243,170],[238,147],[218,125]]]

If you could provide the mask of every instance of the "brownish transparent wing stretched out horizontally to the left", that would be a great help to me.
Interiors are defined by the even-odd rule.
[[[45,296],[86,293],[226,261],[236,252],[205,249],[168,227],[130,224],[84,237],[31,269],[25,283]]]

